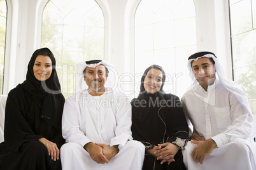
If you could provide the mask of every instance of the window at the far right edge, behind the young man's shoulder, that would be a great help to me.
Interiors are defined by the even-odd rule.
[[[256,1],[229,0],[234,81],[248,95],[256,119]]]

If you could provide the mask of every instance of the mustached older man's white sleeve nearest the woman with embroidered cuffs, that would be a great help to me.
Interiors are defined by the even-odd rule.
[[[115,129],[115,137],[111,139],[110,146],[119,145],[118,148],[124,147],[128,140],[132,140],[131,136],[131,104],[126,96],[119,95],[119,105],[116,108],[117,128]]]

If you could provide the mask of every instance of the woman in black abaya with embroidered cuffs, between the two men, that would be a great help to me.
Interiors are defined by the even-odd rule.
[[[186,169],[181,150],[188,125],[178,96],[163,91],[166,74],[159,65],[141,77],[138,98],[132,105],[132,137],[145,145],[143,169]]]

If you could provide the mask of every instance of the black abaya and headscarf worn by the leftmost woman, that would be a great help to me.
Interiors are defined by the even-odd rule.
[[[34,61],[41,54],[49,56],[52,60],[52,74],[43,82],[38,81],[33,72]],[[48,93],[45,88],[55,93]],[[37,49],[29,62],[26,80],[22,84],[18,84],[8,94],[5,109],[4,142],[0,144],[0,169],[1,166],[13,164],[13,159],[20,160],[20,162],[16,162],[12,167],[25,164],[23,162],[25,160],[33,161],[32,154],[24,155],[24,150],[28,150],[29,143],[38,141],[39,138],[46,138],[56,143],[58,148],[64,144],[61,134],[64,101],[64,96],[60,93],[59,79],[55,70],[55,58],[52,52],[48,48]],[[46,155],[48,156],[47,153]],[[23,160],[20,157],[27,157],[28,159]],[[48,160],[43,161],[38,162],[38,164],[41,166],[48,164]],[[61,166],[57,168],[61,169]],[[31,167],[31,169],[34,168]]]

